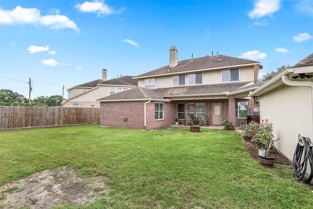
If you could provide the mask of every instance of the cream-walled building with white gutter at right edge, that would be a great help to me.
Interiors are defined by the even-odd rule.
[[[275,147],[289,159],[298,135],[313,140],[313,54],[249,94],[260,96],[260,116],[273,123]]]

